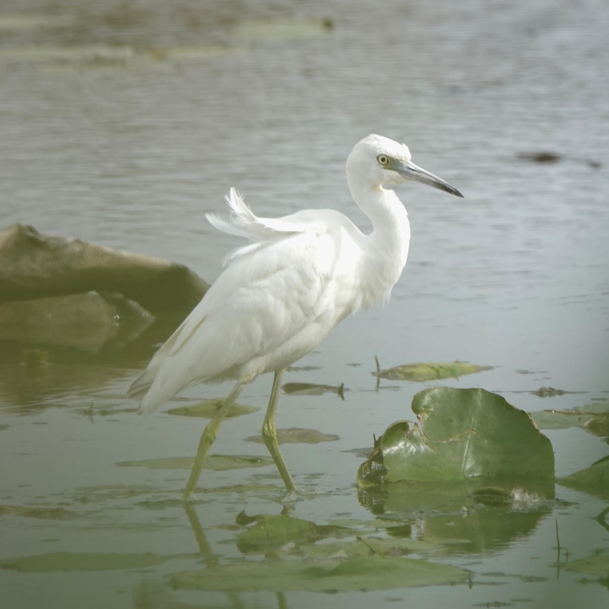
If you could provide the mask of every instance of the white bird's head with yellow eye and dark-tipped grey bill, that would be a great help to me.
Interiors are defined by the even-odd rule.
[[[368,180],[373,187],[399,186],[415,180],[463,197],[448,182],[415,165],[411,158],[406,144],[373,133],[354,146],[347,159],[347,174],[359,175],[359,179]]]

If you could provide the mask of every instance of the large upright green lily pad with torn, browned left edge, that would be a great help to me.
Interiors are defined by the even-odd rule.
[[[417,393],[418,424],[397,421],[359,468],[361,487],[401,480],[554,478],[554,451],[530,416],[484,389]]]

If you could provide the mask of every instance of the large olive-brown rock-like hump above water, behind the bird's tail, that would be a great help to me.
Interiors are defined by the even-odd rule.
[[[119,292],[155,316],[183,319],[209,285],[182,264],[13,224],[0,232],[0,303]]]

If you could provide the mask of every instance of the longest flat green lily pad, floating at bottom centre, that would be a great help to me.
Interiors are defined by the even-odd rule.
[[[345,560],[242,561],[172,577],[174,588],[247,592],[390,590],[464,582],[468,571],[413,558],[367,555]]]

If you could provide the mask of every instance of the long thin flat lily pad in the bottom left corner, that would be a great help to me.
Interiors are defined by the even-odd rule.
[[[0,568],[26,573],[48,573],[54,571],[113,571],[114,569],[141,569],[161,565],[168,557],[142,552],[141,554],[118,554],[110,552],[54,552],[24,558],[12,558],[0,562]]]

